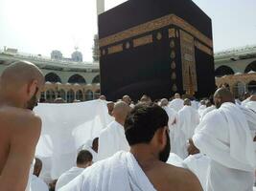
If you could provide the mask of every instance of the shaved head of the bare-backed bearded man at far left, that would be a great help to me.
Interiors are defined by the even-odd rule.
[[[33,110],[37,105],[44,76],[35,64],[17,61],[8,66],[0,80],[0,99],[14,107]]]

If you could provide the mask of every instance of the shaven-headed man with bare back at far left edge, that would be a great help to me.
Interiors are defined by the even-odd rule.
[[[14,62],[0,80],[0,190],[25,190],[41,119],[32,112],[44,76],[32,63]]]

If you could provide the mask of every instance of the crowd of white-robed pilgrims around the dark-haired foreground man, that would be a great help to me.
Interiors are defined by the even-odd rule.
[[[137,103],[129,96],[123,96],[116,102],[106,101],[105,96],[100,96],[100,99],[105,100],[112,121],[101,132],[99,138],[94,138],[81,146],[77,166],[63,173],[58,180],[46,183],[40,179],[43,163],[35,158],[34,175],[31,179],[32,191],[96,190],[90,187],[89,180],[86,180],[86,172],[88,176],[100,176],[97,174],[101,174],[101,168],[104,167],[97,166],[97,163],[104,163],[105,159],[115,158],[117,153],[130,150],[130,145],[133,144],[132,138],[128,140],[126,135],[128,116],[132,111],[136,112],[136,107],[142,104],[157,105],[169,117],[168,139],[171,152],[166,159],[159,157],[160,160],[189,169],[198,178],[202,190],[249,191],[253,189],[253,185],[255,186],[256,96],[245,93],[243,97],[235,99],[226,88],[221,88],[215,96],[199,101],[179,94],[175,94],[170,100],[163,98],[154,101],[150,96],[144,95]],[[137,136],[143,137],[144,133]],[[140,164],[139,160],[138,163]],[[111,168],[111,164],[107,165],[106,168]],[[89,170],[90,168],[92,170]],[[108,177],[99,179],[114,179],[111,178],[111,173],[106,176]],[[140,183],[148,182],[142,180]],[[105,190],[111,190],[113,186],[118,187],[103,184]],[[137,189],[138,187],[140,188]],[[137,185],[133,190],[152,189],[146,185]],[[194,190],[193,186],[188,190]]]

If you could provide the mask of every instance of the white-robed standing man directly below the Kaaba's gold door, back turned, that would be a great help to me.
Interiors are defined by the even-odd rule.
[[[184,107],[178,112],[178,128],[181,130],[181,133],[179,134],[179,138],[175,140],[179,142],[179,151],[176,154],[182,159],[188,157],[187,141],[193,137],[198,123],[198,111],[191,106],[189,99],[185,99]]]

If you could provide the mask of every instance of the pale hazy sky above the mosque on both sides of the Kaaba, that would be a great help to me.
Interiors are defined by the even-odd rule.
[[[105,9],[125,1],[105,0]],[[212,18],[215,53],[256,44],[256,0],[193,1]],[[95,33],[96,0],[0,0],[0,50],[70,57],[79,47],[92,61]]]

